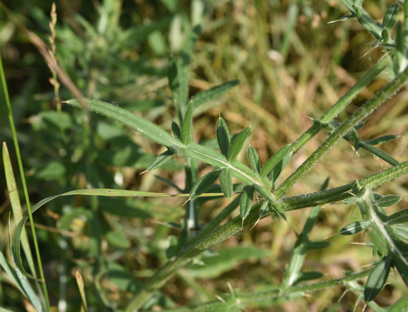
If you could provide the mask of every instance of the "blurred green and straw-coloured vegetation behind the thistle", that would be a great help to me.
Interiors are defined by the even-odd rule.
[[[215,136],[221,115],[231,131],[251,125],[249,142],[261,163],[284,144],[293,142],[319,118],[383,54],[371,49],[374,38],[357,21],[335,22],[348,12],[337,0],[59,0],[56,1],[56,56],[59,64],[86,97],[126,108],[170,130],[175,117],[167,81],[169,55],[182,47],[192,25],[202,23],[191,62],[190,95],[228,80],[240,83],[221,100],[196,111],[195,140]],[[366,1],[374,19],[382,18],[391,1]],[[52,1],[4,1],[18,20],[48,43]],[[163,152],[134,131],[106,117],[62,104],[57,113],[52,74],[42,56],[0,10],[0,49],[18,126],[18,139],[31,204],[73,189],[123,188],[175,193],[155,175],[184,188],[182,159],[140,175],[153,157]],[[387,71],[364,90],[341,115],[370,98],[388,81]],[[2,92],[2,91],[0,91]],[[60,97],[72,97],[64,86]],[[3,95],[1,95],[3,99]],[[0,140],[7,142],[14,161],[6,106],[0,105]],[[408,93],[388,101],[359,131],[362,139],[380,134],[406,135]],[[284,175],[302,163],[325,138],[321,133],[293,156]],[[399,161],[407,159],[407,141],[397,139],[381,147]],[[244,159],[245,155],[241,155]],[[318,190],[330,176],[329,187],[378,172],[389,165],[365,150],[357,155],[340,142],[290,191],[291,195]],[[208,168],[200,166],[200,174]],[[7,254],[10,203],[0,166],[0,248]],[[381,194],[408,195],[407,179],[391,181]],[[22,192],[20,179],[18,187]],[[22,195],[22,193],[21,193]],[[23,196],[20,196],[23,198]],[[208,202],[200,220],[206,223],[228,203]],[[55,311],[80,310],[73,269],[80,268],[90,311],[122,307],[142,281],[166,261],[165,250],[180,230],[166,223],[182,223],[182,199],[116,199],[60,197],[34,214],[40,251]],[[403,199],[399,205],[406,206]],[[295,231],[301,230],[309,209],[288,212],[288,223],[270,218],[252,230],[231,237],[215,250],[215,257],[197,259],[180,270],[146,309],[213,300],[234,289],[271,288],[282,281]],[[238,213],[238,212],[236,212]],[[321,240],[357,220],[352,206],[321,210],[312,238]],[[12,222],[12,227],[14,226]],[[372,261],[370,248],[358,243],[361,235],[335,236],[331,246],[311,252],[305,266],[327,278],[359,270]],[[200,265],[204,261],[206,266]],[[391,278],[376,302],[389,305],[406,296],[399,278]],[[313,293],[271,308],[260,303],[247,311],[352,311],[356,297],[343,288]],[[339,302],[338,302],[339,301]],[[64,308],[64,302],[67,307]],[[0,306],[29,309],[18,291],[0,274]],[[363,303],[359,303],[357,311]],[[24,308],[25,307],[25,308]],[[58,309],[56,308],[58,307]],[[328,309],[330,307],[330,309]],[[366,311],[368,311],[367,308]]]

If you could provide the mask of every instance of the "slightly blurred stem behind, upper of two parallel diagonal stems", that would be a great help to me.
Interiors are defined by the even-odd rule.
[[[312,137],[314,137],[324,124],[330,122],[335,118],[375,77],[381,73],[389,64],[389,56],[384,55],[373,68],[371,68],[361,79],[359,79],[355,85],[353,85],[330,109],[320,117],[320,123],[313,123],[308,130],[303,133],[293,143],[292,147],[295,151],[299,150],[304,144],[306,144]]]

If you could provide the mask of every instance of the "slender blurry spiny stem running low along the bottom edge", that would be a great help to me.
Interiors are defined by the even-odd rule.
[[[364,277],[368,276],[370,274],[371,270],[366,270],[363,272],[359,273],[352,273],[347,275],[346,277],[342,277],[340,279],[332,279],[330,281],[323,281],[323,282],[318,282],[318,283],[312,283],[312,284],[306,284],[306,285],[298,285],[298,286],[291,286],[285,290],[284,293],[279,293],[279,289],[273,289],[273,290],[266,290],[263,292],[255,292],[252,294],[238,294],[236,295],[236,303],[237,305],[239,304],[251,304],[251,303],[257,303],[262,300],[270,300],[270,299],[278,299],[278,298],[285,298],[286,296],[290,294],[296,294],[296,293],[305,293],[305,292],[314,292],[317,290],[322,290],[326,288],[332,288],[335,286],[339,285],[346,285],[347,283],[353,282],[353,281],[358,281],[360,279],[363,279]],[[205,312],[205,311],[212,311],[212,308],[214,307],[214,310],[217,310],[216,308],[220,308],[220,301],[219,300],[214,300],[206,303],[200,303],[200,304],[195,304],[195,305],[188,305],[185,307],[180,307],[180,308],[175,308],[175,309],[166,309],[163,310],[163,312]],[[228,303],[230,302],[228,301]],[[231,303],[232,304],[232,303]],[[227,308],[227,306],[225,306]]]

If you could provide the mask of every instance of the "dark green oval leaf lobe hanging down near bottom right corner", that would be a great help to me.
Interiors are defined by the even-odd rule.
[[[390,273],[391,258],[382,258],[368,275],[366,287],[364,288],[364,300],[373,300],[384,287],[388,274]]]

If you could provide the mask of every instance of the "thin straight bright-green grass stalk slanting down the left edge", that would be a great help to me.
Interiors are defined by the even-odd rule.
[[[20,176],[21,176],[22,186],[23,186],[23,190],[24,190],[24,197],[25,197],[25,201],[26,201],[26,204],[27,204],[27,212],[28,212],[29,219],[30,219],[31,233],[33,235],[35,255],[37,257],[37,262],[38,262],[38,269],[40,271],[42,291],[44,292],[44,299],[45,299],[45,304],[46,304],[47,311],[50,311],[50,303],[49,303],[49,298],[48,298],[47,285],[45,283],[44,271],[42,270],[42,262],[41,262],[41,257],[40,257],[40,250],[38,248],[37,236],[35,235],[35,228],[34,228],[33,215],[31,213],[30,199],[29,199],[29,196],[28,196],[27,184],[26,184],[25,177],[24,177],[24,169],[23,169],[23,165],[22,165],[22,161],[21,161],[20,147],[18,146],[16,126],[14,125],[13,113],[11,111],[9,91],[7,89],[7,82],[6,82],[6,77],[4,75],[3,62],[2,62],[1,55],[0,55],[0,76],[1,76],[2,87],[3,87],[3,91],[4,91],[4,98],[5,98],[6,106],[7,106],[7,113],[9,115],[11,133],[13,135],[14,147],[16,149],[16,157],[17,157],[17,162],[18,162],[18,168],[20,170]],[[37,274],[36,274],[35,271],[32,272],[32,273],[33,273],[34,277],[37,277]]]

